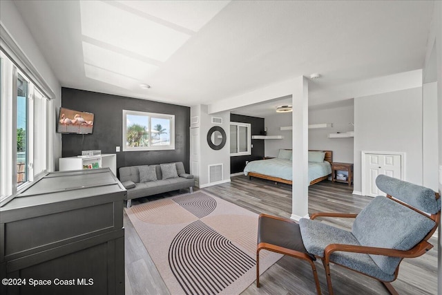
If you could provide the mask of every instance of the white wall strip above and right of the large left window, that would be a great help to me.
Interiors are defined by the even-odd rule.
[[[48,159],[48,170],[54,171],[55,164],[58,163],[58,158],[61,157],[61,135],[55,132],[56,113],[59,106],[61,106],[61,86],[12,1],[1,0],[0,19],[2,26],[14,38],[17,46],[28,57],[52,92],[55,93],[55,99],[50,103],[50,110],[48,111],[48,146],[50,149],[48,155],[52,155]]]

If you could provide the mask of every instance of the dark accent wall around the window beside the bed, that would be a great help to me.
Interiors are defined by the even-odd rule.
[[[262,135],[264,131],[264,118],[230,114],[230,122],[251,124],[251,135]],[[264,158],[264,140],[251,140],[251,144],[253,144],[251,155],[230,157],[230,173],[244,171],[246,161],[262,160],[262,158]]]

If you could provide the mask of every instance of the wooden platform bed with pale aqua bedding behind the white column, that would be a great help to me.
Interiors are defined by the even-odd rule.
[[[333,151],[309,150],[310,185],[326,180],[332,174]],[[324,153],[323,161],[318,159]],[[310,161],[314,160],[314,161]],[[244,168],[244,175],[255,178],[292,184],[291,150],[280,149],[278,158],[249,162]]]

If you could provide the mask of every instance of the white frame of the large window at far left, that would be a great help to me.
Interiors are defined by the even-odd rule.
[[[26,189],[32,182],[41,178],[47,171],[48,151],[48,96],[39,89],[32,79],[16,62],[0,50],[0,206],[6,204],[18,191]],[[17,183],[17,102],[18,80],[28,84],[26,93],[26,181]],[[36,93],[42,99],[39,108],[35,105]],[[41,113],[39,113],[41,111]],[[44,120],[37,126],[35,120]],[[37,134],[38,133],[38,134]],[[43,136],[41,136],[43,135]],[[40,138],[40,137],[41,138]],[[38,140],[36,138],[39,137]],[[37,146],[40,144],[41,146]],[[35,171],[36,151],[39,152],[39,170]]]

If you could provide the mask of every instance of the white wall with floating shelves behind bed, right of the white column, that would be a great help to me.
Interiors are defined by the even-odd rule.
[[[332,123],[332,128],[309,129],[309,149],[333,151],[333,162],[353,163],[354,138],[329,138],[329,133],[353,131],[354,104],[314,108],[309,111],[309,124]]]

